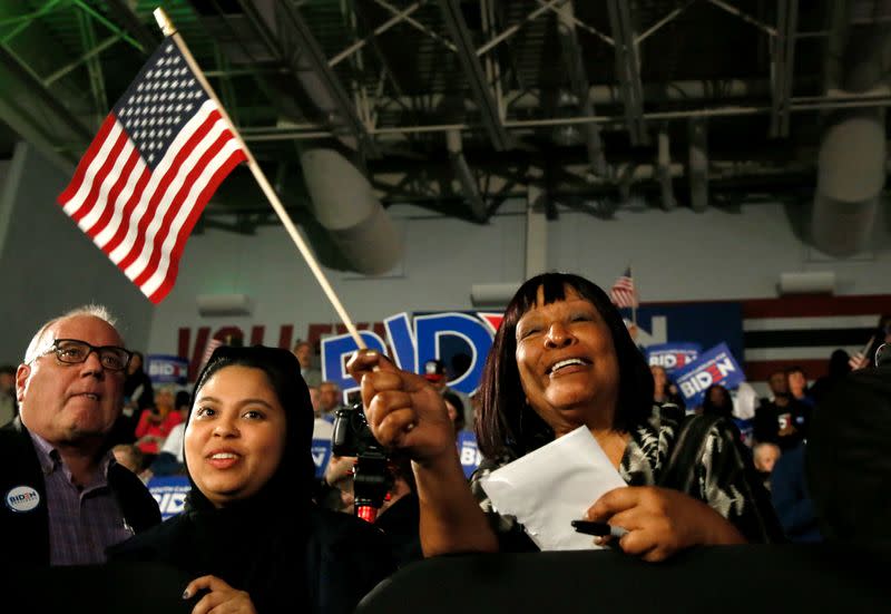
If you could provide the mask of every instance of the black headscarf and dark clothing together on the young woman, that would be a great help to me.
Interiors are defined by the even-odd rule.
[[[275,472],[258,493],[222,508],[214,507],[189,477],[185,511],[112,546],[110,559],[161,563],[189,578],[215,575],[246,591],[260,614],[352,612],[393,569],[382,534],[362,520],[312,504],[313,410],[291,352],[217,349],[198,376],[193,406],[209,378],[236,366],[266,373],[284,408],[285,448]]]

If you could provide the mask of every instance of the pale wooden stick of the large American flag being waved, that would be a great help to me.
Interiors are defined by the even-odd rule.
[[[266,198],[270,201],[272,208],[275,209],[275,213],[278,214],[278,218],[282,221],[282,224],[284,224],[287,234],[291,235],[291,238],[294,241],[294,245],[296,245],[297,250],[300,250],[300,253],[303,255],[303,260],[305,260],[306,264],[310,266],[310,271],[312,271],[313,275],[315,275],[319,285],[322,286],[322,290],[327,296],[327,300],[331,301],[334,311],[337,312],[337,315],[340,316],[341,321],[346,325],[346,330],[350,331],[350,335],[353,338],[356,345],[359,345],[361,349],[364,350],[365,342],[362,341],[362,338],[359,335],[359,331],[356,330],[355,324],[353,324],[353,321],[350,319],[350,314],[346,313],[345,309],[343,309],[340,299],[337,299],[337,295],[334,293],[334,289],[331,287],[327,277],[325,277],[324,272],[319,266],[319,263],[315,261],[315,256],[313,256],[313,253],[310,251],[310,247],[306,245],[306,242],[303,241],[303,237],[297,232],[296,226],[294,226],[294,222],[291,221],[291,217],[287,215],[287,211],[285,211],[285,207],[278,199],[278,195],[275,193],[275,189],[273,189],[272,185],[270,185],[270,182],[266,178],[266,175],[263,174],[263,169],[261,169],[260,165],[257,164],[257,160],[254,159],[254,154],[251,153],[251,149],[247,148],[247,145],[244,143],[242,135],[238,134],[238,130],[235,129],[235,124],[232,123],[228,113],[226,113],[225,107],[219,101],[219,98],[214,91],[214,88],[210,87],[210,84],[207,81],[207,78],[204,76],[204,72],[202,72],[200,68],[198,68],[195,58],[192,57],[192,52],[188,50],[188,47],[186,47],[186,43],[183,41],[183,37],[180,37],[179,33],[176,31],[176,28],[174,27],[173,22],[167,17],[167,13],[164,11],[163,8],[158,7],[157,9],[155,9],[154,14],[155,14],[155,21],[158,22],[158,27],[164,32],[164,36],[173,39],[174,43],[179,48],[179,51],[183,53],[183,57],[186,59],[186,62],[192,69],[192,72],[195,74],[195,78],[198,79],[198,82],[202,85],[202,87],[204,87],[204,90],[207,92],[210,99],[214,100],[214,103],[216,103],[216,106],[219,108],[219,114],[223,116],[223,119],[229,125],[229,130],[232,130],[232,134],[235,136],[235,139],[238,142],[238,145],[244,150],[245,156],[247,157],[247,167],[251,169],[251,173],[253,173],[254,178],[260,184],[260,188],[263,191],[263,194],[266,195]]]

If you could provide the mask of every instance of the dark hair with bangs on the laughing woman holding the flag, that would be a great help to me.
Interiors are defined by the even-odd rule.
[[[516,359],[517,323],[536,305],[539,287],[545,304],[565,300],[566,290],[572,289],[595,306],[609,329],[619,367],[614,428],[628,431],[646,421],[653,409],[653,374],[606,293],[571,273],[537,275],[523,283],[510,300],[486,359],[476,431],[480,450],[489,458],[505,452],[519,457],[554,439],[550,427],[526,402]]]

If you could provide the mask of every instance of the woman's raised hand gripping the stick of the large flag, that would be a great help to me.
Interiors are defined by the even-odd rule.
[[[456,454],[446,402],[427,380],[370,350],[353,354],[346,370],[361,384],[365,417],[381,445],[422,465]]]

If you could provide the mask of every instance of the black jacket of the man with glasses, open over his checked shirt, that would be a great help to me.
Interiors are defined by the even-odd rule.
[[[108,468],[108,485],[127,524],[136,533],[160,523],[158,504],[129,469],[115,462]],[[14,511],[7,495],[17,486],[30,486],[40,496],[30,511]],[[43,472],[31,436],[20,418],[0,428],[0,544],[7,564],[49,565],[49,516]]]

